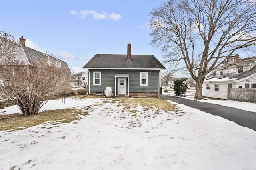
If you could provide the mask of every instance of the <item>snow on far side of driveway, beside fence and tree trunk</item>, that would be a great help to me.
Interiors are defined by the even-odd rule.
[[[163,92],[162,94],[175,96],[174,90],[172,88],[168,89],[167,93]],[[186,97],[182,97],[182,98],[194,100],[194,96],[195,96],[195,90],[188,89],[187,93],[186,93]],[[212,104],[219,104],[222,106],[228,106],[228,107],[233,107],[236,109],[256,112],[256,104],[255,103],[238,102],[238,101],[232,101],[232,100],[212,100],[212,99],[208,99],[208,98],[204,98],[203,100],[197,100],[197,101],[207,102],[207,103],[212,103]]]

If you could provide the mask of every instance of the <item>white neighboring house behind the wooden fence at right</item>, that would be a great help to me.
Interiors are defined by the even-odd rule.
[[[206,77],[202,96],[227,99],[228,88],[256,88],[256,56],[234,56]]]

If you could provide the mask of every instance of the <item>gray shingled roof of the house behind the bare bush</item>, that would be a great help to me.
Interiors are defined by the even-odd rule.
[[[26,47],[24,45],[21,45],[22,49],[24,50],[24,53],[29,61],[30,64],[32,65],[38,65],[40,64],[40,62],[44,62],[46,61],[46,56],[52,57],[50,55],[46,55],[40,51],[36,51],[34,49],[31,49],[29,47]],[[68,72],[70,72],[70,69],[68,67],[68,64],[65,61],[62,61],[60,59],[57,59],[55,57],[52,57],[55,60],[58,60],[61,62],[61,68],[63,68],[64,70],[68,70]]]

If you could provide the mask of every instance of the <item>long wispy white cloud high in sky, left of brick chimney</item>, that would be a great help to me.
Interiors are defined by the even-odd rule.
[[[86,18],[88,15],[92,15],[95,20],[119,20],[122,16],[120,14],[109,14],[108,12],[103,12],[102,14],[96,12],[95,10],[81,10],[77,12],[76,10],[70,10],[71,15],[79,15],[81,18]]]

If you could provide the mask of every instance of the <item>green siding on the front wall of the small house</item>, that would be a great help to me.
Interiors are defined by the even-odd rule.
[[[160,70],[89,70],[90,71],[90,92],[103,92],[106,86],[112,86],[115,92],[115,74],[129,74],[129,92],[159,92],[159,72]],[[93,72],[101,72],[101,85],[93,85]],[[153,73],[150,73],[150,72]],[[140,72],[148,72],[148,86],[140,86]],[[116,89],[118,90],[118,80],[116,80]],[[144,87],[144,89],[142,89]],[[128,88],[128,79],[126,78],[126,92]]]

